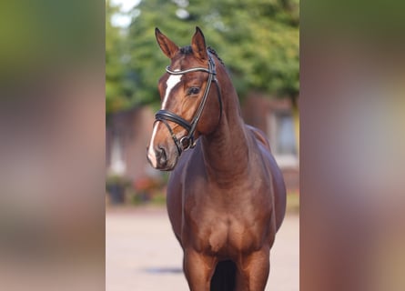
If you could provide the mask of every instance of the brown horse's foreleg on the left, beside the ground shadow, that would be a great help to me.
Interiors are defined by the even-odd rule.
[[[217,260],[213,256],[187,249],[184,252],[183,265],[190,291],[209,291]]]

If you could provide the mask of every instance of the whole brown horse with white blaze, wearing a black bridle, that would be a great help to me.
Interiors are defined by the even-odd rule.
[[[285,215],[281,172],[263,133],[244,124],[225,65],[201,30],[181,48],[158,29],[156,37],[171,64],[158,83],[162,106],[147,158],[173,170],[167,212],[188,286],[262,291]]]

